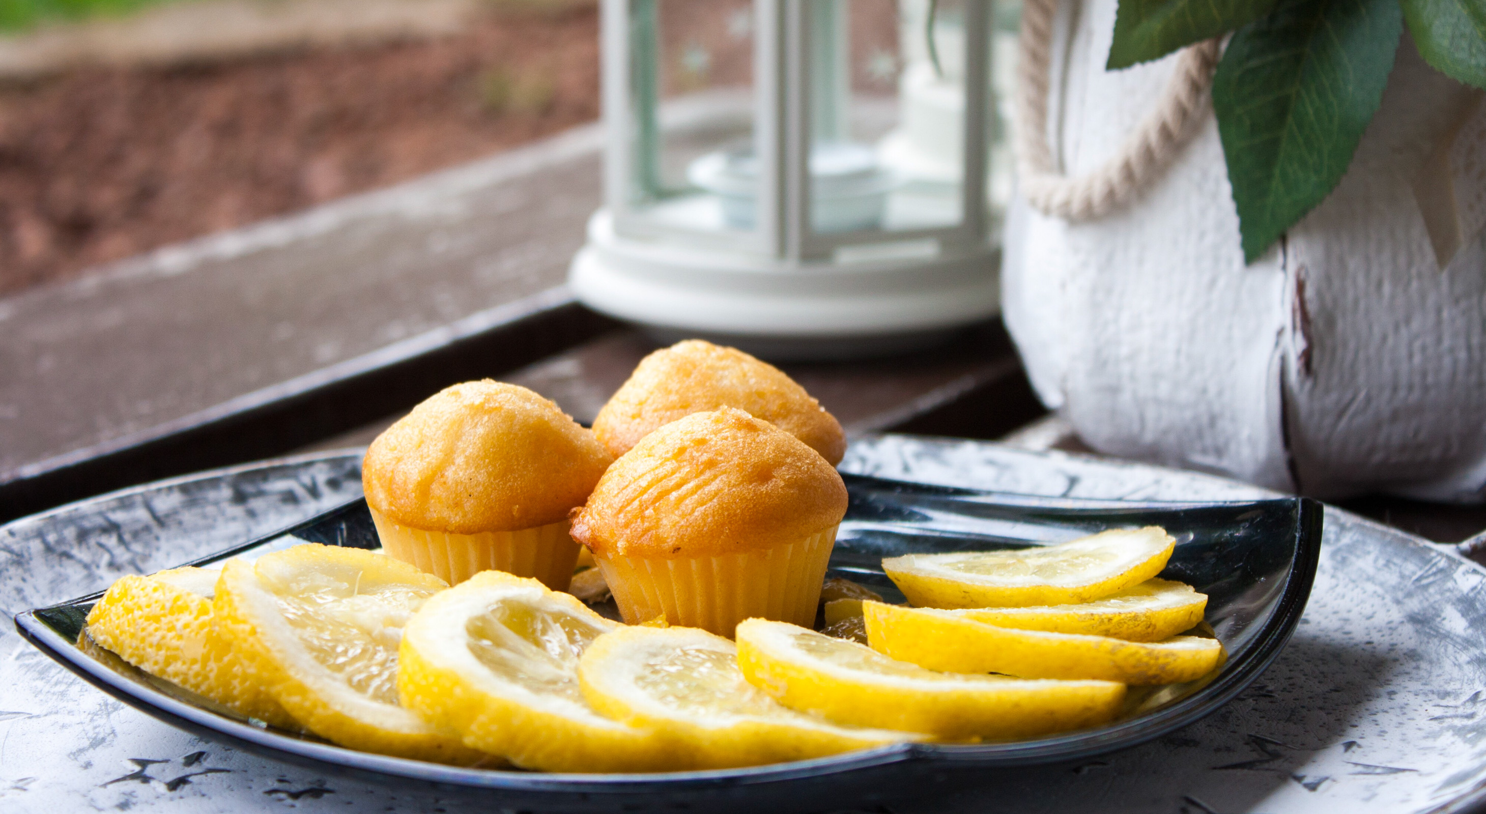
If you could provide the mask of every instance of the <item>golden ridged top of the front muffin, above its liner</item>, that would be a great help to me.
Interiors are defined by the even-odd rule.
[[[599,556],[706,557],[773,548],[841,521],[846,484],[794,435],[724,407],[651,432],[574,518]]]

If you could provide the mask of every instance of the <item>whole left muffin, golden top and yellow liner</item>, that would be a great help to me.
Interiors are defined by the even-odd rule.
[[[444,388],[389,426],[361,466],[386,553],[450,585],[496,569],[563,591],[568,535],[612,458],[551,401],[502,382]]]

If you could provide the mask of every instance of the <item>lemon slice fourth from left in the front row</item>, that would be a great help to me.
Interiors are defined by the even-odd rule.
[[[664,731],[697,768],[802,761],[921,738],[789,710],[747,683],[733,642],[691,627],[606,633],[583,654],[578,680],[594,709]]]

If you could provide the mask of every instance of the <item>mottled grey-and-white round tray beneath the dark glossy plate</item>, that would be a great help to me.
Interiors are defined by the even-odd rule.
[[[324,453],[181,478],[0,527],[0,609],[107,587],[287,526],[360,492]],[[844,469],[1034,495],[1251,499],[1190,472],[1005,446],[872,437]],[[1208,719],[1077,765],[987,774],[911,813],[1462,811],[1486,786],[1486,570],[1328,509],[1315,593],[1259,682]],[[330,780],[204,741],[82,683],[0,628],[0,811],[490,811]]]

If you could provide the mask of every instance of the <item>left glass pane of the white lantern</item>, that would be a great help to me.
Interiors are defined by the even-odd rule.
[[[649,224],[709,233],[755,227],[758,196],[740,192],[758,174],[755,24],[750,0],[630,3],[629,206]]]

